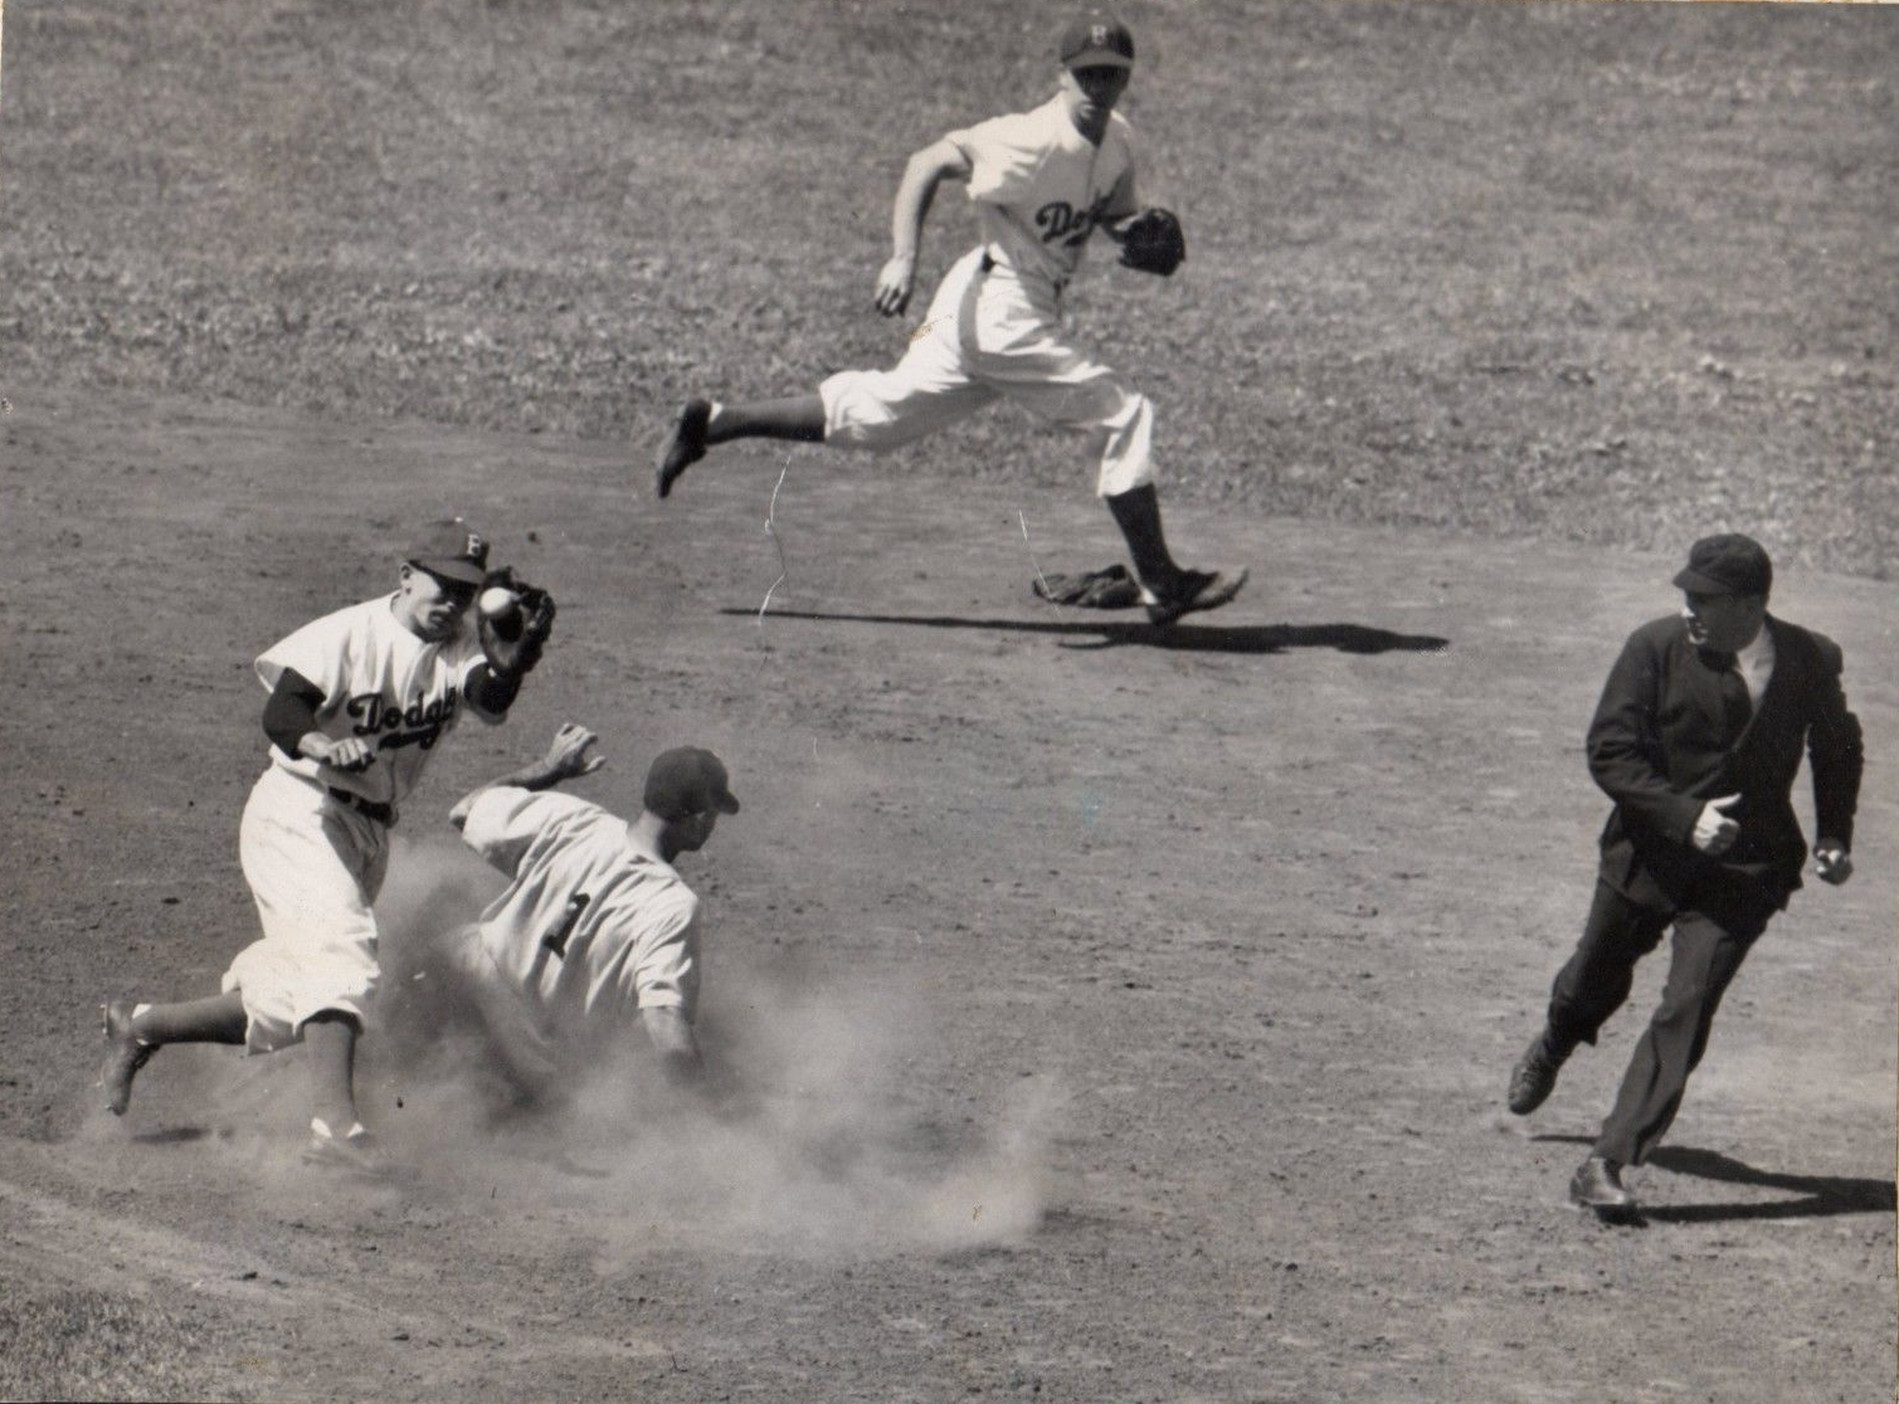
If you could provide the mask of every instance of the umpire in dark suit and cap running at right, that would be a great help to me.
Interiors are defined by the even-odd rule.
[[[1675,576],[1683,610],[1629,635],[1589,724],[1589,773],[1616,802],[1603,828],[1595,902],[1557,973],[1542,1034],[1510,1073],[1527,1115],[1578,1043],[1629,997],[1635,963],[1673,925],[1662,1005],[1635,1045],[1616,1106],[1569,1197],[1633,1216],[1624,1165],[1667,1132],[1702,1060],[1720,996],[1806,866],[1791,794],[1814,762],[1815,874],[1853,872],[1861,731],[1831,638],[1768,614],[1774,566],[1747,536],[1694,543]]]

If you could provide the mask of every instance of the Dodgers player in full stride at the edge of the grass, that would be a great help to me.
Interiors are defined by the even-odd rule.
[[[1122,262],[1162,275],[1185,258],[1185,239],[1172,213],[1143,211],[1136,196],[1134,139],[1115,112],[1134,68],[1128,27],[1082,15],[1062,30],[1058,57],[1060,89],[1043,106],[951,131],[910,158],[877,312],[910,306],[923,218],[944,180],[967,182],[982,243],[944,275],[896,369],[845,370],[790,399],[687,399],[659,446],[661,498],[710,445],[763,437],[889,450],[1010,399],[1088,435],[1096,494],[1128,541],[1153,623],[1240,593],[1244,570],[1175,564],[1155,490],[1153,405],[1062,325],[1062,293],[1096,228],[1122,245]]]

